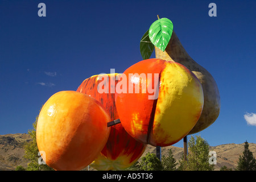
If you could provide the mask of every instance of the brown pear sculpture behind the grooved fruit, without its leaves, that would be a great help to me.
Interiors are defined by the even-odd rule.
[[[188,135],[198,133],[212,125],[220,113],[220,93],[217,84],[212,75],[188,55],[174,31],[164,52],[155,47],[155,57],[183,64],[201,82],[204,92],[204,107],[199,121]]]

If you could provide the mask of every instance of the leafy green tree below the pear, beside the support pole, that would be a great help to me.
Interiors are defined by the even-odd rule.
[[[179,160],[181,171],[212,171],[214,164],[209,164],[209,144],[200,136],[191,136],[188,142],[187,160]]]

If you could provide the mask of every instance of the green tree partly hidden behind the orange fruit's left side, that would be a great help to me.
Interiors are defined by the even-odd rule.
[[[38,123],[38,117],[36,117],[36,121],[32,124],[33,129],[28,130],[28,134],[31,137],[31,141],[27,142],[24,145],[25,155],[24,158],[28,159],[30,162],[27,164],[27,171],[49,171],[53,170],[51,167],[46,164],[38,164],[38,145],[36,143],[36,125]]]

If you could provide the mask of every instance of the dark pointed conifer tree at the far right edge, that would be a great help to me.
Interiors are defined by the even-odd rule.
[[[245,142],[243,155],[239,156],[236,169],[238,171],[256,171],[256,160],[253,156],[253,152],[249,150],[249,144],[247,141]]]

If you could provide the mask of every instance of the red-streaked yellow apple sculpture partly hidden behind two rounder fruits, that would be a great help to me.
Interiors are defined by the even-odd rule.
[[[77,92],[85,93],[101,102],[113,121],[119,118],[114,92],[120,76],[118,73],[91,76],[81,83]],[[134,164],[145,148],[146,144],[131,137],[119,123],[111,126],[108,142],[90,166],[97,170],[123,170]]]

